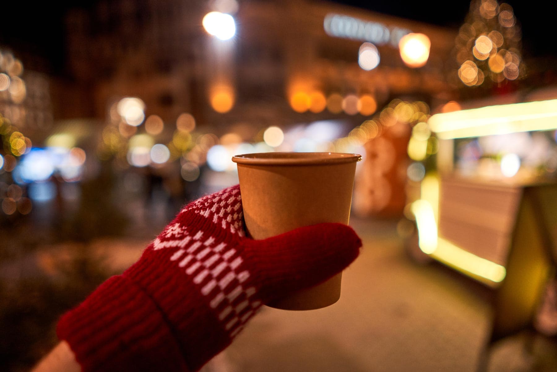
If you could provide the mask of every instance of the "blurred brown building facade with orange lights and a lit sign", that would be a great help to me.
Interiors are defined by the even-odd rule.
[[[207,12],[219,10],[236,19],[237,32],[230,40],[208,35],[201,25]],[[217,127],[339,117],[361,123],[365,115],[338,108],[336,95],[371,96],[366,114],[395,96],[426,101],[445,97],[451,86],[443,64],[456,35],[311,1],[250,1],[239,6],[223,1],[101,1],[71,11],[67,30],[69,70],[92,92],[96,117],[104,118],[113,100],[138,96],[146,115],[173,122],[188,112],[198,125]],[[432,40],[428,64],[421,69],[411,69],[400,59],[398,39],[408,32],[422,32]],[[364,41],[375,41],[380,56],[371,71],[358,65]]]

